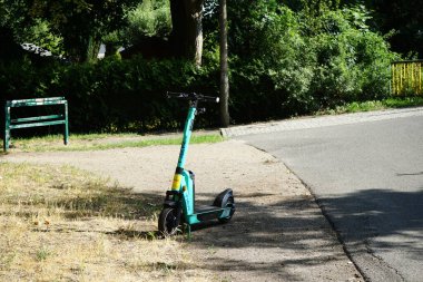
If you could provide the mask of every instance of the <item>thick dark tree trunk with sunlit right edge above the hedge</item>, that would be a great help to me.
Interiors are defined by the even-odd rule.
[[[177,57],[201,65],[204,0],[170,0],[170,46]]]

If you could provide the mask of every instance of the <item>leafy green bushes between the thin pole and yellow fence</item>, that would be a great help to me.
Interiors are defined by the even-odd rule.
[[[331,10],[337,1],[317,2],[322,9],[313,14],[309,9],[293,12],[276,0],[238,0],[230,7],[232,116],[240,117],[236,121],[388,95],[388,67],[397,56],[368,29],[370,13],[362,6]]]

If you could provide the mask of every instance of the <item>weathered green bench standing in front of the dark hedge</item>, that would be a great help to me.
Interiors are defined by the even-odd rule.
[[[11,118],[11,108],[18,107],[35,107],[35,106],[52,106],[52,105],[63,105],[62,114],[57,115],[46,115],[36,117],[22,117],[22,118]],[[49,126],[49,125],[65,125],[63,127],[63,143],[68,144],[69,140],[69,123],[68,123],[68,101],[65,97],[52,97],[52,98],[38,98],[38,99],[24,99],[24,100],[7,100],[4,105],[4,139],[3,149],[7,152],[10,144],[10,130],[37,126]]]

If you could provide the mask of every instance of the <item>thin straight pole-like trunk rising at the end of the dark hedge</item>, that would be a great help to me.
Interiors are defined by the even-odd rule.
[[[228,127],[229,117],[229,79],[228,79],[228,48],[227,48],[227,14],[226,0],[219,0],[219,45],[220,45],[220,123]]]

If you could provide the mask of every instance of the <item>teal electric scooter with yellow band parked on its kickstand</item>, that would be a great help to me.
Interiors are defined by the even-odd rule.
[[[198,103],[218,103],[219,98],[195,93],[167,93],[167,97],[187,100],[189,103],[189,110],[171,188],[166,192],[164,207],[158,218],[158,230],[161,235],[170,236],[178,231],[183,231],[183,226],[185,225],[188,236],[190,236],[191,225],[210,220],[227,223],[235,213],[235,201],[230,188],[218,194],[212,205],[196,206],[195,175],[193,172],[185,169],[185,161]]]

